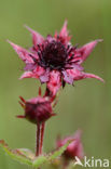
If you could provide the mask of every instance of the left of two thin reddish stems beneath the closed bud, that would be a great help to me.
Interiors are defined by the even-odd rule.
[[[39,156],[40,154],[40,123],[37,125],[37,147],[36,147],[36,156]]]

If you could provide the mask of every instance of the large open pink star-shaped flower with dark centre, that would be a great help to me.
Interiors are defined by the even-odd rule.
[[[103,81],[96,75],[84,73],[81,65],[96,44],[101,41],[100,39],[81,48],[73,47],[67,30],[67,22],[65,22],[60,32],[56,32],[54,37],[48,35],[43,38],[31,28],[27,26],[26,28],[32,35],[33,46],[29,51],[9,41],[26,64],[25,73],[20,79],[38,78],[41,83],[46,83],[46,88],[53,95],[56,94],[61,86],[65,87],[66,83],[73,84],[75,80],[96,78]]]

